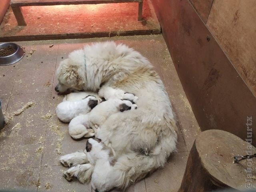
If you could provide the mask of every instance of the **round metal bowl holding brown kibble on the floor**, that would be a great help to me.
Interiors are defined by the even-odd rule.
[[[2,43],[0,44],[0,49],[7,46],[12,46],[16,51],[11,55],[0,57],[0,65],[14,64],[21,60],[25,55],[25,50],[16,43]]]

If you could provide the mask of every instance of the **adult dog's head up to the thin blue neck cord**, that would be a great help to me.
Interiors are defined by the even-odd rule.
[[[67,59],[60,62],[56,75],[56,92],[65,92],[68,88],[83,90],[86,87],[86,66],[83,50],[71,52]]]

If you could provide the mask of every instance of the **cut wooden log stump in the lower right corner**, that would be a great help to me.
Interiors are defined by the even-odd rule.
[[[234,156],[247,153],[256,153],[256,148],[229,132],[202,132],[188,156],[179,192],[256,189],[256,158],[234,163]]]

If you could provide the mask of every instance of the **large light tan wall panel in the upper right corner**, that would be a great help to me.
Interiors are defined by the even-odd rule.
[[[256,1],[214,0],[207,20],[216,40],[256,96]]]

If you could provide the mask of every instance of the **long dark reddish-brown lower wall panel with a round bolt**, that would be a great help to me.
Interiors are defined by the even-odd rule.
[[[256,98],[252,92],[189,0],[152,2],[201,129],[225,130],[245,139],[247,116],[256,118]],[[255,145],[256,129],[253,141]]]

